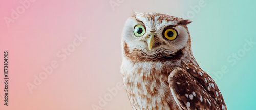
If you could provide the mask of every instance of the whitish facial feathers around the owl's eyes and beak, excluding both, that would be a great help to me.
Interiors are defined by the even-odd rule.
[[[154,20],[149,19],[143,17],[143,14],[140,13],[137,13],[136,17],[130,17],[129,19],[127,19],[124,24],[122,36],[128,47],[131,49],[142,50],[147,54],[154,54],[155,51],[159,49],[168,52],[175,52],[186,46],[189,33],[187,32],[187,29],[185,27],[177,25],[178,21],[173,20],[172,18],[170,18],[170,20],[173,21],[159,21],[158,19],[159,17],[155,17]],[[140,37],[134,35],[134,27],[136,25],[145,26],[146,32],[144,35]],[[167,26],[174,26],[173,28],[177,30],[178,36],[173,41],[164,38],[164,36],[162,35],[164,29]],[[152,48],[151,51],[148,50],[148,44],[145,42],[145,39],[148,37],[150,32],[156,33],[156,37],[158,37],[158,41],[156,42],[161,43],[159,47]]]

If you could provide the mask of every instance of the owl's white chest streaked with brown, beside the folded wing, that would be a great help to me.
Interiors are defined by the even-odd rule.
[[[158,66],[122,67],[125,90],[134,109],[177,108],[170,93],[168,75]]]

